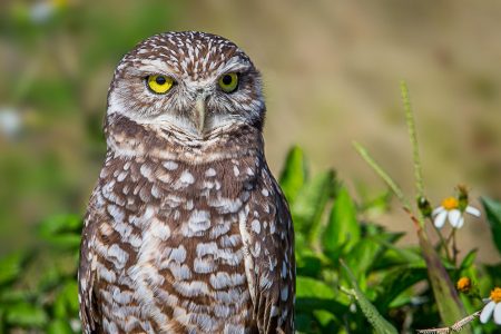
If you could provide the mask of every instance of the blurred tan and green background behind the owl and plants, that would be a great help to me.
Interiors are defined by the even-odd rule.
[[[114,68],[167,30],[222,35],[253,58],[275,174],[299,145],[313,171],[334,168],[355,197],[375,196],[385,187],[352,148],[357,140],[412,196],[405,79],[430,198],[440,203],[458,183],[472,197],[501,197],[499,1],[2,0],[0,254],[50,215],[84,213],[104,158]],[[377,219],[410,229],[394,207]],[[495,261],[485,222],[466,223],[460,245]]]

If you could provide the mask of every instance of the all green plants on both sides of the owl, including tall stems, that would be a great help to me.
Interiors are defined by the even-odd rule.
[[[466,255],[460,261],[456,229],[446,236],[436,228],[438,244],[425,232],[426,225],[436,224],[436,215],[424,195],[413,117],[406,88],[402,89],[414,150],[415,205],[361,145],[355,145],[358,153],[389,185],[380,196],[362,200],[354,199],[334,170],[312,175],[301,148],[288,153],[279,181],[296,230],[299,333],[367,333],[370,327],[375,333],[411,333],[440,324],[442,332],[423,333],[499,331],[475,317],[483,307],[481,297],[501,284],[501,263],[475,262],[475,249],[461,249]],[[464,213],[468,190],[458,190],[456,202],[443,206]],[[392,194],[415,227],[418,246],[399,243],[404,234],[370,218],[390,210]],[[501,252],[501,203],[482,197],[482,205]],[[79,215],[50,217],[38,226],[36,245],[0,258],[0,333],[80,331],[80,230]]]

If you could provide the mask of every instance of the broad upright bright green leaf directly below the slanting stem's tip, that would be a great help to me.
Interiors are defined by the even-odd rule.
[[[322,245],[327,253],[350,250],[360,240],[361,227],[356,219],[356,207],[345,187],[341,187],[334,199]]]

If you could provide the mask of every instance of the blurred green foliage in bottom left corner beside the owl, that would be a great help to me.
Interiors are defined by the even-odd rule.
[[[39,244],[0,259],[0,333],[78,333],[77,258],[81,220],[58,215],[35,232]]]

